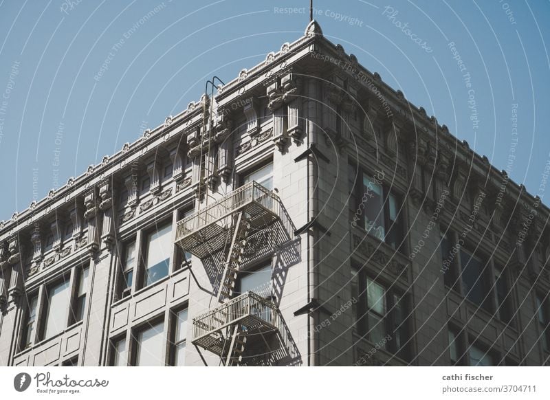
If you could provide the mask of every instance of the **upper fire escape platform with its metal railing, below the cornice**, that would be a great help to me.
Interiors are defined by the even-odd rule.
[[[177,223],[175,243],[201,259],[231,241],[232,216],[243,212],[250,230],[261,230],[281,219],[281,202],[255,181],[237,188]]]

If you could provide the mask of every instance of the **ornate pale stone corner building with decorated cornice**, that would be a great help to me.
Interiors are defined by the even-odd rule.
[[[549,364],[547,217],[312,21],[0,224],[0,363]]]

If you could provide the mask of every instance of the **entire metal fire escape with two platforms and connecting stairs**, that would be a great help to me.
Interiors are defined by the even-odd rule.
[[[193,318],[191,342],[219,355],[225,366],[261,365],[266,354],[287,351],[278,307],[252,291],[235,297],[234,289],[243,260],[273,253],[289,232],[281,201],[255,181],[177,223],[177,245],[223,271],[218,305]]]

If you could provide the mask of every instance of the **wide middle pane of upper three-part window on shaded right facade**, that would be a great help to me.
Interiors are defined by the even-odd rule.
[[[461,277],[464,296],[478,306],[490,311],[489,296],[487,296],[487,274],[485,263],[464,249],[460,251]]]

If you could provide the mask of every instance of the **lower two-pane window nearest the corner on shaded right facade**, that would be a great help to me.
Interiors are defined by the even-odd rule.
[[[351,282],[352,296],[353,291],[358,296],[358,302],[352,308],[358,333],[373,344],[379,344],[381,348],[406,359],[408,322],[405,298],[366,276],[362,270],[355,273]],[[354,282],[357,282],[357,289],[353,287]]]

